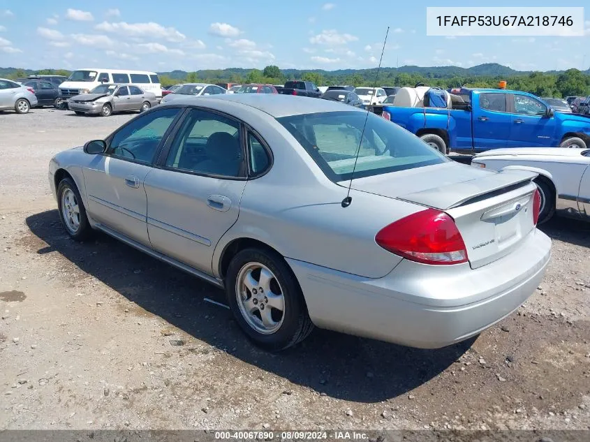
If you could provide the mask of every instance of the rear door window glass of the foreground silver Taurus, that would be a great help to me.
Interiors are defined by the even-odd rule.
[[[172,142],[166,166],[205,175],[244,176],[239,123],[192,110]]]

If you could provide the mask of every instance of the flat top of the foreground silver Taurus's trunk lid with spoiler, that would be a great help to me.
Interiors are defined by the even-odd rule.
[[[485,193],[530,181],[526,170],[494,172],[450,161],[423,168],[353,179],[352,189],[447,210]],[[341,182],[346,186],[349,182]]]

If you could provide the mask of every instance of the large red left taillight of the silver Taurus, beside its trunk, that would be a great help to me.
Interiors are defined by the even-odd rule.
[[[467,249],[455,221],[443,212],[425,209],[402,218],[377,233],[383,249],[424,264],[467,262]]]

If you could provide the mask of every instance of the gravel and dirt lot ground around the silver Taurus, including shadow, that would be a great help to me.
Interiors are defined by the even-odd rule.
[[[477,339],[316,330],[270,355],[203,300],[220,290],[61,227],[51,156],[132,116],[0,113],[0,429],[590,429],[589,224],[542,227],[545,280]]]

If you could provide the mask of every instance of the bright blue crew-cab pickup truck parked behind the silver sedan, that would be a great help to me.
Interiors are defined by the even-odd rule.
[[[555,112],[540,98],[506,89],[452,91],[452,108],[383,106],[382,116],[448,154],[503,147],[590,147],[590,117]]]

